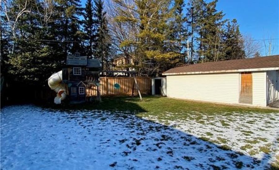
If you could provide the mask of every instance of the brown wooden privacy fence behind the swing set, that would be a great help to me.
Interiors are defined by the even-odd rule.
[[[151,78],[149,77],[136,77],[135,78],[141,94],[151,94]],[[115,84],[119,84],[120,88],[115,88]],[[136,85],[134,84],[134,77],[100,77],[100,94],[101,96],[129,96],[133,94],[138,95]],[[134,85],[134,87],[133,87]],[[89,96],[96,96],[96,87],[87,89]]]

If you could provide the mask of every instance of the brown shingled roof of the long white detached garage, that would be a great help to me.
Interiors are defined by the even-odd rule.
[[[163,75],[260,71],[263,68],[278,70],[279,55],[184,65],[167,70]]]

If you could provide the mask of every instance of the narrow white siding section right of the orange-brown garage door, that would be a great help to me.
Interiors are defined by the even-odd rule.
[[[253,105],[266,106],[267,105],[267,84],[266,72],[253,72]]]

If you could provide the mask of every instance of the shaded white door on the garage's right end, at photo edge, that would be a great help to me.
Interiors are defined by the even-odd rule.
[[[277,100],[277,71],[268,71],[268,104]]]

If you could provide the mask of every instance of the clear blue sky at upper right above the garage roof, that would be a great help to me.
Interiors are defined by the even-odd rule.
[[[217,9],[223,10],[225,19],[237,19],[243,35],[255,40],[279,38],[279,0],[219,0]],[[263,42],[259,43],[265,55]],[[279,40],[272,45],[273,54],[279,54]]]

